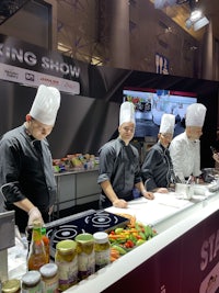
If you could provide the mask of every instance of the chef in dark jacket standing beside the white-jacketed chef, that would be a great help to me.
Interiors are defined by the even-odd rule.
[[[173,138],[175,116],[163,114],[158,134],[158,143],[146,155],[141,174],[147,190],[160,193],[169,192],[175,183],[169,145]]]

